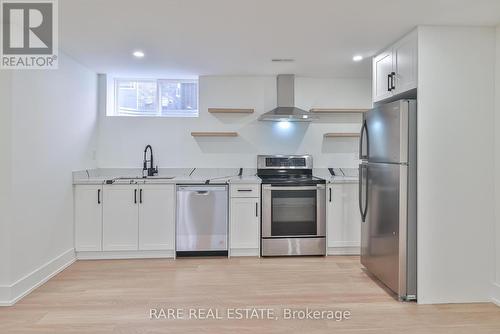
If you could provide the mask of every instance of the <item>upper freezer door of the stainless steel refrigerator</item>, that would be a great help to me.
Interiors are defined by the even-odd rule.
[[[408,128],[416,126],[409,124],[409,112],[416,113],[413,100],[384,104],[366,113],[365,142],[369,162],[408,162]]]

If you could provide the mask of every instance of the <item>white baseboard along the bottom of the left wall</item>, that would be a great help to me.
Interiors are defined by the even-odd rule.
[[[76,261],[73,248],[41,265],[11,285],[0,286],[0,306],[12,306]]]

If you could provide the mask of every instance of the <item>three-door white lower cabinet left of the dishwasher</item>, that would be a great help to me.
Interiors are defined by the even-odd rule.
[[[93,254],[84,258],[173,256],[175,185],[76,185],[74,194],[75,250]]]

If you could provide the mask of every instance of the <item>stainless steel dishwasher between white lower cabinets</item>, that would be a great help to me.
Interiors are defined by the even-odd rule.
[[[227,239],[227,185],[177,186],[177,256],[227,256]]]

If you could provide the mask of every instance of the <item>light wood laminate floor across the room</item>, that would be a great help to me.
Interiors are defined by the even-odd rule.
[[[273,308],[279,319],[226,319],[245,307]],[[306,307],[351,319],[282,318]],[[224,319],[150,320],[151,308],[213,308]],[[0,333],[498,334],[500,308],[397,302],[351,256],[77,261],[0,308]]]

